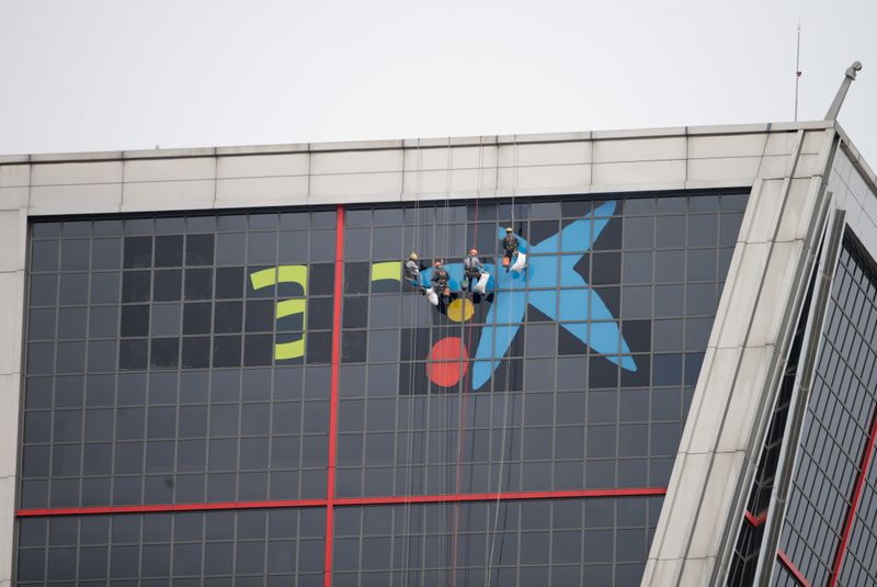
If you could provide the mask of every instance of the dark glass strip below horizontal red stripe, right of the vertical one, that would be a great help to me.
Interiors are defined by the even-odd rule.
[[[639,585],[662,499],[345,507],[334,586]]]

